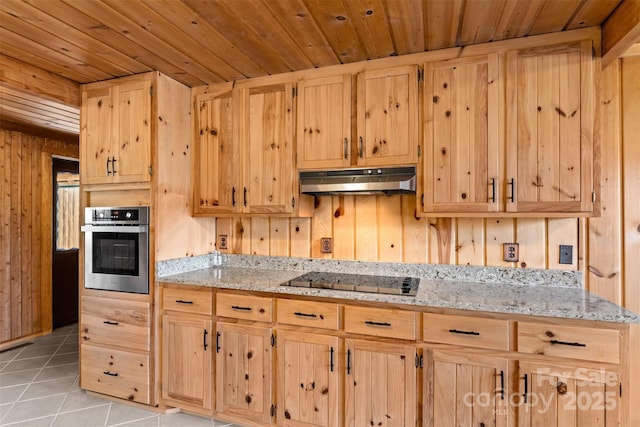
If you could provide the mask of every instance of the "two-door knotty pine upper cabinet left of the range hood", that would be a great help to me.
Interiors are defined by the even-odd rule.
[[[297,187],[293,96],[292,83],[194,93],[194,215],[311,215]]]

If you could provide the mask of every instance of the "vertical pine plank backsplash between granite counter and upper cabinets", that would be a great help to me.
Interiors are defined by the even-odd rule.
[[[316,198],[313,218],[218,218],[229,253],[431,264],[578,269],[576,218],[417,218],[415,196]],[[320,251],[331,237],[333,252]],[[518,242],[520,260],[502,261]],[[573,263],[559,264],[559,245]]]

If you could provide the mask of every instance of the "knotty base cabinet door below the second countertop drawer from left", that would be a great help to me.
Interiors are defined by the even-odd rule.
[[[218,322],[216,342],[217,414],[270,423],[271,328]]]

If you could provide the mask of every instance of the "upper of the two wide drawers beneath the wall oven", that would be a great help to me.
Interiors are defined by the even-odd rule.
[[[150,317],[146,302],[82,297],[82,342],[149,351]]]

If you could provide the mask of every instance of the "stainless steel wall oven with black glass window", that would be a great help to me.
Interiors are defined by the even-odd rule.
[[[149,207],[85,209],[84,287],[149,293]]]

